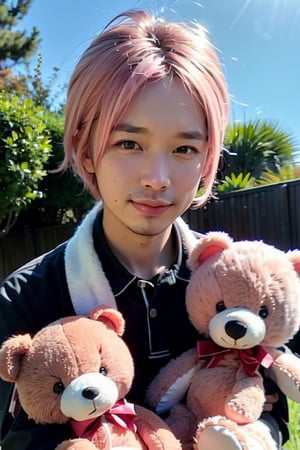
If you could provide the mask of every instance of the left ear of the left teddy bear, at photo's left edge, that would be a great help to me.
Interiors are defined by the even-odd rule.
[[[32,345],[29,334],[13,336],[0,349],[0,377],[15,382],[20,374],[21,361]]]

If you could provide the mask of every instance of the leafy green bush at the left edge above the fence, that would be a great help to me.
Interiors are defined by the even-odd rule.
[[[30,99],[0,93],[0,235],[43,195],[39,182],[50,150],[43,110]]]

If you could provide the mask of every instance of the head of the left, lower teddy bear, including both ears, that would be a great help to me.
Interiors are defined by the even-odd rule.
[[[40,423],[93,419],[128,392],[133,360],[121,335],[122,315],[98,307],[89,317],[58,320],[33,338],[9,338],[0,376],[15,382],[29,417]]]

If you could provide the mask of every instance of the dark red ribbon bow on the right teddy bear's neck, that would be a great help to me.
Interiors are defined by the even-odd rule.
[[[197,354],[199,359],[206,359],[206,367],[215,367],[225,355],[234,354],[241,360],[242,366],[248,375],[253,377],[260,365],[269,368],[273,363],[273,358],[262,345],[245,350],[224,348],[213,341],[198,341]]]

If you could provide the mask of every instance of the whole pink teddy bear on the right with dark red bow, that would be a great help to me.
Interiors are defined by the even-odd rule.
[[[194,247],[186,307],[202,338],[171,360],[146,394],[183,448],[277,449],[259,417],[262,373],[300,402],[300,251],[209,232]]]

